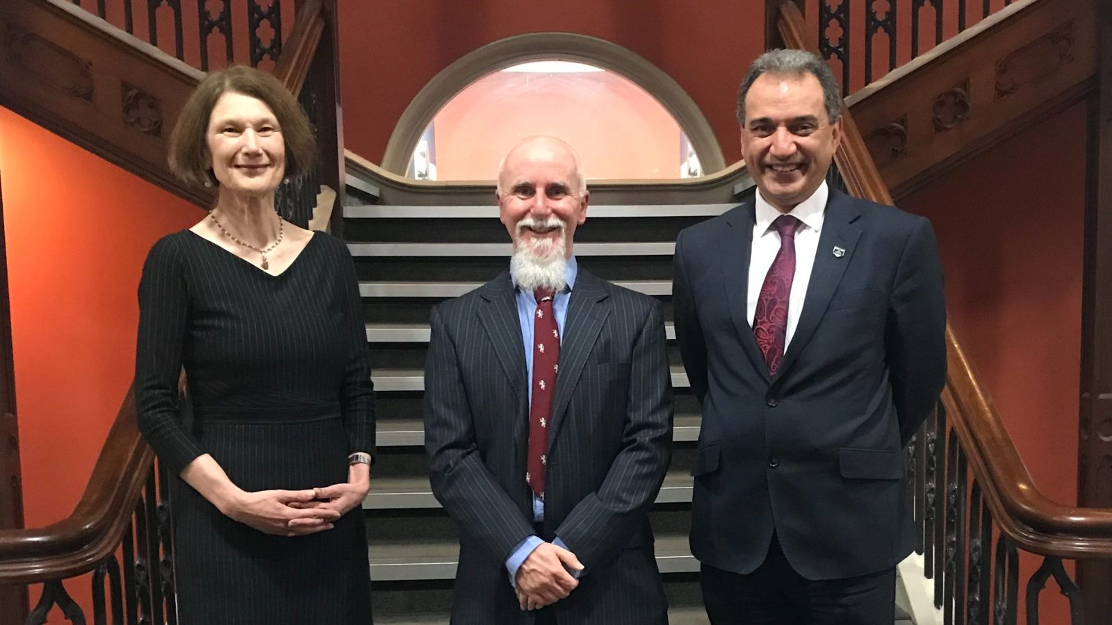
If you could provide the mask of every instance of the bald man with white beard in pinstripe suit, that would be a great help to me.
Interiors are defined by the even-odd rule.
[[[459,527],[453,624],[667,623],[647,512],[671,460],[659,304],[578,267],[575,151],[530,137],[498,176],[510,269],[433,309],[425,445]]]

